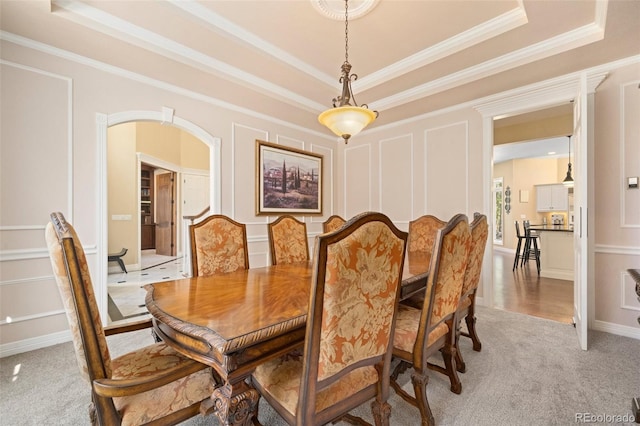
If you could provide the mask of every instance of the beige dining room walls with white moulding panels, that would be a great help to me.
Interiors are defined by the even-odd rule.
[[[62,211],[73,223],[94,284],[106,286],[106,277],[95,274],[102,244],[96,220],[101,206],[97,113],[169,107],[219,137],[221,213],[247,224],[252,266],[268,261],[266,224],[274,219],[255,215],[256,139],[324,156],[323,215],[302,217],[311,236],[333,213],[350,217],[381,210],[401,228],[424,213],[443,218],[458,212],[490,213],[483,211],[482,119],[470,108],[371,129],[345,146],[328,132],[304,131],[225,109],[152,81],[129,80],[6,41],[0,54],[6,61],[0,65],[0,355],[69,338],[43,239],[51,211]],[[640,264],[640,190],[621,189],[620,165],[625,158],[624,174],[640,174],[638,91],[629,89],[639,80],[637,65],[613,71],[596,95],[592,300],[596,324],[615,332],[637,328],[638,303],[624,271]]]

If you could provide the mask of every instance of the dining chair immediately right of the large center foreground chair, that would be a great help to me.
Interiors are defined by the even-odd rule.
[[[471,249],[471,235],[466,215],[455,215],[437,231],[429,278],[422,309],[400,304],[393,342],[393,356],[400,362],[391,375],[391,386],[408,403],[418,407],[423,425],[433,425],[434,417],[427,400],[428,369],[444,373],[451,391],[460,393],[462,385],[455,366],[455,317],[460,301],[465,271]],[[440,352],[445,367],[429,363]],[[398,377],[413,367],[411,382],[414,395],[402,389]]]

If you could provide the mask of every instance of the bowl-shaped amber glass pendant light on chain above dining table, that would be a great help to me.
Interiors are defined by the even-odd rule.
[[[371,111],[366,104],[358,106],[351,90],[351,81],[357,80],[357,74],[351,72],[349,63],[349,1],[344,1],[344,63],[342,64],[342,93],[333,98],[333,108],[328,109],[318,116],[318,121],[329,128],[333,133],[344,139],[346,144],[349,138],[357,135],[378,117],[378,111]],[[351,103],[353,102],[353,104]]]

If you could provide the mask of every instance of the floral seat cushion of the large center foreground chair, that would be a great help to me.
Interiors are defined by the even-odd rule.
[[[293,351],[258,366],[253,373],[253,380],[265,394],[295,416],[300,396],[301,376],[302,352]],[[377,381],[378,373],[372,366],[350,372],[316,394],[316,412],[348,399],[349,396]]]

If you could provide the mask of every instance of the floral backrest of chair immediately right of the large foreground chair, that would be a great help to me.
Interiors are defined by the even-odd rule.
[[[466,215],[457,214],[436,235],[417,347],[426,348],[429,332],[442,321],[453,319],[462,294],[470,250],[469,221]]]

